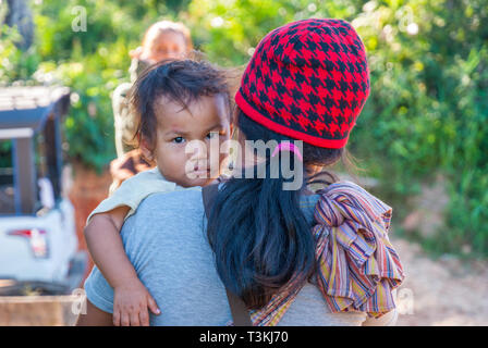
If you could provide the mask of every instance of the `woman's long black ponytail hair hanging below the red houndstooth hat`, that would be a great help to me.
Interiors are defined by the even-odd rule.
[[[237,127],[246,140],[294,140],[261,126],[239,109]],[[303,163],[291,160],[292,166],[304,166],[302,188],[314,178],[306,175],[308,166],[333,164],[343,152],[304,142]],[[223,185],[207,226],[221,281],[249,309],[263,308],[292,277],[304,282],[315,269],[312,226],[300,208],[303,190],[283,190],[286,179],[281,171],[278,178],[270,178],[270,161],[267,153],[266,161],[255,166],[255,174],[258,165],[266,166],[265,178],[245,178],[243,173],[242,178],[231,178]],[[337,181],[333,174],[324,173],[330,177],[321,181],[324,184]]]

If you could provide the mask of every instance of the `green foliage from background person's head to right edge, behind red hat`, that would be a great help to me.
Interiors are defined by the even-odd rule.
[[[244,64],[259,39],[286,22],[351,22],[371,72],[352,152],[379,178],[396,221],[413,208],[405,198],[442,173],[446,227],[424,244],[488,253],[488,1],[194,0],[188,11],[193,28],[205,28],[194,33],[209,57],[227,65]]]

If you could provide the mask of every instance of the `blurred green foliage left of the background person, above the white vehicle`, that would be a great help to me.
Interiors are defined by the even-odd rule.
[[[62,84],[73,92],[64,129],[68,154],[98,172],[115,157],[111,94],[129,80],[129,51],[150,23],[174,18],[187,1],[44,0],[32,2],[36,39],[15,47],[15,28],[0,32],[0,83]],[[0,20],[7,9],[2,7]],[[86,30],[83,18],[86,14]],[[1,21],[3,22],[3,21]]]

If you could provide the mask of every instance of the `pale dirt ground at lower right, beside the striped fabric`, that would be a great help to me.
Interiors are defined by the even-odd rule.
[[[432,260],[416,244],[391,241],[406,273],[398,326],[488,325],[488,261]]]

